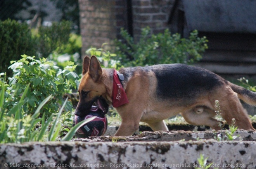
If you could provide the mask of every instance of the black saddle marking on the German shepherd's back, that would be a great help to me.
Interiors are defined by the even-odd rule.
[[[223,84],[220,76],[185,64],[156,65],[151,68],[157,78],[157,94],[163,98],[193,98]]]

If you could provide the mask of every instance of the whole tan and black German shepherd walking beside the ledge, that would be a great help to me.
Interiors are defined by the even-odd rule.
[[[114,69],[101,68],[97,57],[86,56],[82,74],[75,114],[86,115],[98,99],[103,99],[101,106],[108,109],[116,99],[112,95]],[[154,131],[168,130],[163,120],[178,113],[190,124],[220,130],[220,121],[214,119],[216,100],[228,124],[232,124],[234,118],[238,128],[255,130],[239,99],[256,106],[256,93],[211,71],[185,64],[159,64],[121,68],[119,74],[128,102],[116,107],[122,119],[116,136],[133,134],[139,122],[148,123]]]

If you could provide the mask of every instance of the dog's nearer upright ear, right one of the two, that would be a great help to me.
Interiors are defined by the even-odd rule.
[[[89,65],[89,72],[90,76],[92,77],[93,81],[98,81],[100,76],[102,75],[102,69],[100,63],[96,56],[92,56],[90,59]]]

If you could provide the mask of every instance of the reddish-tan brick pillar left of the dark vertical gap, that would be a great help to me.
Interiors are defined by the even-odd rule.
[[[111,46],[120,27],[125,27],[125,1],[79,0],[82,56],[90,47]],[[108,46],[105,46],[108,47]]]

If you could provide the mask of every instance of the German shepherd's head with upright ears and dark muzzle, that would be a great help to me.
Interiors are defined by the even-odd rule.
[[[83,60],[83,77],[78,88],[80,100],[75,115],[85,116],[90,112],[94,102],[106,113],[108,105],[102,97],[106,93],[106,86],[102,82],[102,68],[98,59],[85,56]]]

